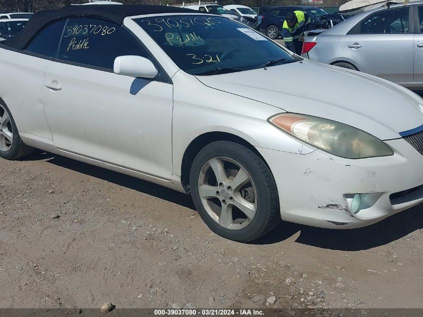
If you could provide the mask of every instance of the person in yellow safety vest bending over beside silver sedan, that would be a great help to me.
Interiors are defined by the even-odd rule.
[[[308,15],[302,11],[288,12],[282,26],[282,37],[285,47],[298,55],[301,54],[304,30],[310,23]]]

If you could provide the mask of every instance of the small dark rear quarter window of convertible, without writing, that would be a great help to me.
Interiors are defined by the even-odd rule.
[[[57,56],[59,41],[65,23],[66,20],[61,20],[44,28],[31,40],[26,50],[46,57],[55,58]]]

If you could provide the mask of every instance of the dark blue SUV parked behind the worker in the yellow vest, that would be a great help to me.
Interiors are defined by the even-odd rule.
[[[279,38],[282,32],[282,24],[285,21],[285,14],[289,11],[302,11],[306,13],[311,20],[308,30],[327,29],[338,24],[342,20],[333,19],[326,11],[316,7],[306,6],[278,6],[269,8],[261,20],[260,32],[267,35],[272,40]]]

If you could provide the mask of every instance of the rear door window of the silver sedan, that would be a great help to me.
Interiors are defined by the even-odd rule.
[[[383,10],[360,22],[360,34],[401,34],[408,32],[409,8]]]

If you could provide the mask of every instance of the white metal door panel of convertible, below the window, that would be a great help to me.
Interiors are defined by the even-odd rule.
[[[52,62],[45,85],[54,81],[62,89],[44,87],[43,101],[55,147],[171,178],[171,84]]]

